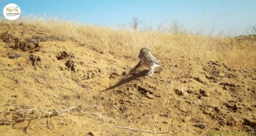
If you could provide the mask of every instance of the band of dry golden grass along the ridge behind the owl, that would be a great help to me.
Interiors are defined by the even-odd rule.
[[[2,20],[0,24],[30,25],[55,36],[64,36],[84,44],[100,53],[134,59],[143,46],[150,46],[159,57],[198,57],[233,66],[256,66],[255,39],[239,37],[213,37],[189,33],[167,34],[155,31],[111,29],[97,25],[84,25],[59,18],[28,16],[15,22]]]

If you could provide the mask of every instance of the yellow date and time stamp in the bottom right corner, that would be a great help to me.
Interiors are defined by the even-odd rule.
[[[209,135],[240,135],[240,136],[247,136],[247,135],[253,135],[253,131],[237,131],[234,132],[231,131],[209,131]]]

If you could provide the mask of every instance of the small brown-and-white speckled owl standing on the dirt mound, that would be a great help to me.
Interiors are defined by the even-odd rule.
[[[155,68],[157,67],[160,67],[162,70],[164,70],[164,67],[160,64],[160,60],[151,54],[150,47],[142,47],[138,57],[142,65],[145,65],[149,68],[147,76],[152,77],[155,72]]]

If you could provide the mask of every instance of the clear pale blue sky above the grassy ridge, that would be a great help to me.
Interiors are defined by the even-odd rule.
[[[201,28],[202,33],[209,34],[214,27],[214,34],[224,31],[239,35],[256,24],[256,0],[0,0],[0,7],[9,3],[17,4],[22,14],[51,13],[101,26],[128,26],[136,16],[153,29],[176,20],[187,30]]]

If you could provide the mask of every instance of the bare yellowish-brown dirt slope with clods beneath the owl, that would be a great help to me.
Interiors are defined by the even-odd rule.
[[[3,135],[200,135],[222,119],[203,135],[256,133],[256,69],[154,51],[166,70],[149,78],[144,66],[129,74],[136,59],[36,27],[0,37]]]

